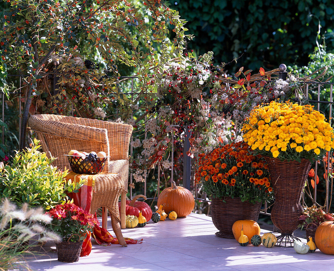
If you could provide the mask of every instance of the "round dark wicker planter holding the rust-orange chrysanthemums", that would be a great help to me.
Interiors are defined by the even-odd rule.
[[[220,199],[212,199],[212,222],[219,230],[219,232],[216,232],[218,237],[233,239],[233,223],[244,219],[258,221],[262,204],[261,202],[256,204],[251,204],[249,201],[241,202],[240,198],[225,197],[224,200],[226,202]]]

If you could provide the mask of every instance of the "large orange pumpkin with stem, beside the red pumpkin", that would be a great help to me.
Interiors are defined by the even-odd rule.
[[[191,192],[182,187],[176,186],[172,182],[172,186],[165,188],[158,197],[158,206],[162,205],[165,212],[175,211],[177,217],[185,217],[191,213],[195,206],[194,196]]]

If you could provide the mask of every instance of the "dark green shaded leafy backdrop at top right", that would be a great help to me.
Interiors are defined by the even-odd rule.
[[[177,3],[175,5],[174,3]],[[188,21],[195,38],[188,48],[213,51],[215,62],[237,62],[256,70],[271,70],[281,63],[305,65],[320,35],[333,48],[334,9],[331,0],[189,0],[169,1]],[[319,19],[319,20],[318,20]],[[236,71],[234,61],[226,68]]]

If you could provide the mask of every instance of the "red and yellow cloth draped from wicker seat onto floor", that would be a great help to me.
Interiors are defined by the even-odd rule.
[[[77,206],[80,206],[83,210],[90,212],[93,189],[95,185],[95,175],[87,174],[76,174],[74,172],[69,172],[65,178],[66,180],[72,180],[72,182],[78,183],[83,181],[83,185],[80,187],[77,193],[68,193],[67,195],[73,199],[73,203]],[[95,213],[96,217],[96,213]],[[92,241],[91,236],[99,245],[110,245],[110,244],[119,244],[117,238],[114,238],[106,229],[100,228],[100,226],[95,226],[93,234],[87,232],[87,236],[82,244],[81,254],[82,256],[88,256],[92,251]],[[141,240],[134,240],[130,238],[124,238],[127,244],[137,244],[142,243]]]

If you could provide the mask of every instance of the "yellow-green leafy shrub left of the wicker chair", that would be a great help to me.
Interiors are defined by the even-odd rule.
[[[36,139],[31,148],[17,152],[11,165],[2,168],[0,198],[8,198],[18,206],[42,206],[49,209],[66,201],[65,192],[72,192],[78,186],[65,182],[67,171],[60,172],[51,165],[45,153],[38,151]]]

